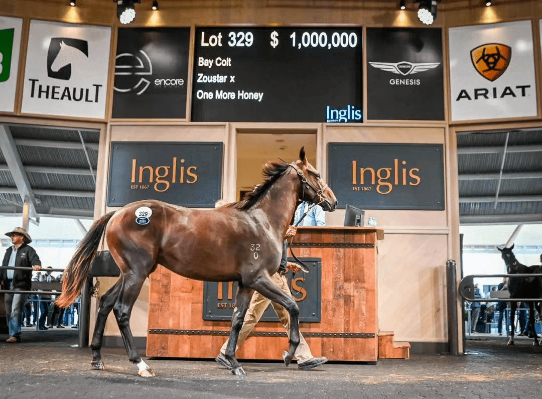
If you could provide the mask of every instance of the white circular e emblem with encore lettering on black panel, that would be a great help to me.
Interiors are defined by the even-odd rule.
[[[137,55],[122,53],[115,57],[115,92],[127,93],[134,91],[135,94],[143,94],[152,81],[152,62],[143,50]],[[145,76],[151,80],[145,78]],[[177,88],[184,85],[184,79],[154,79],[155,87]]]

